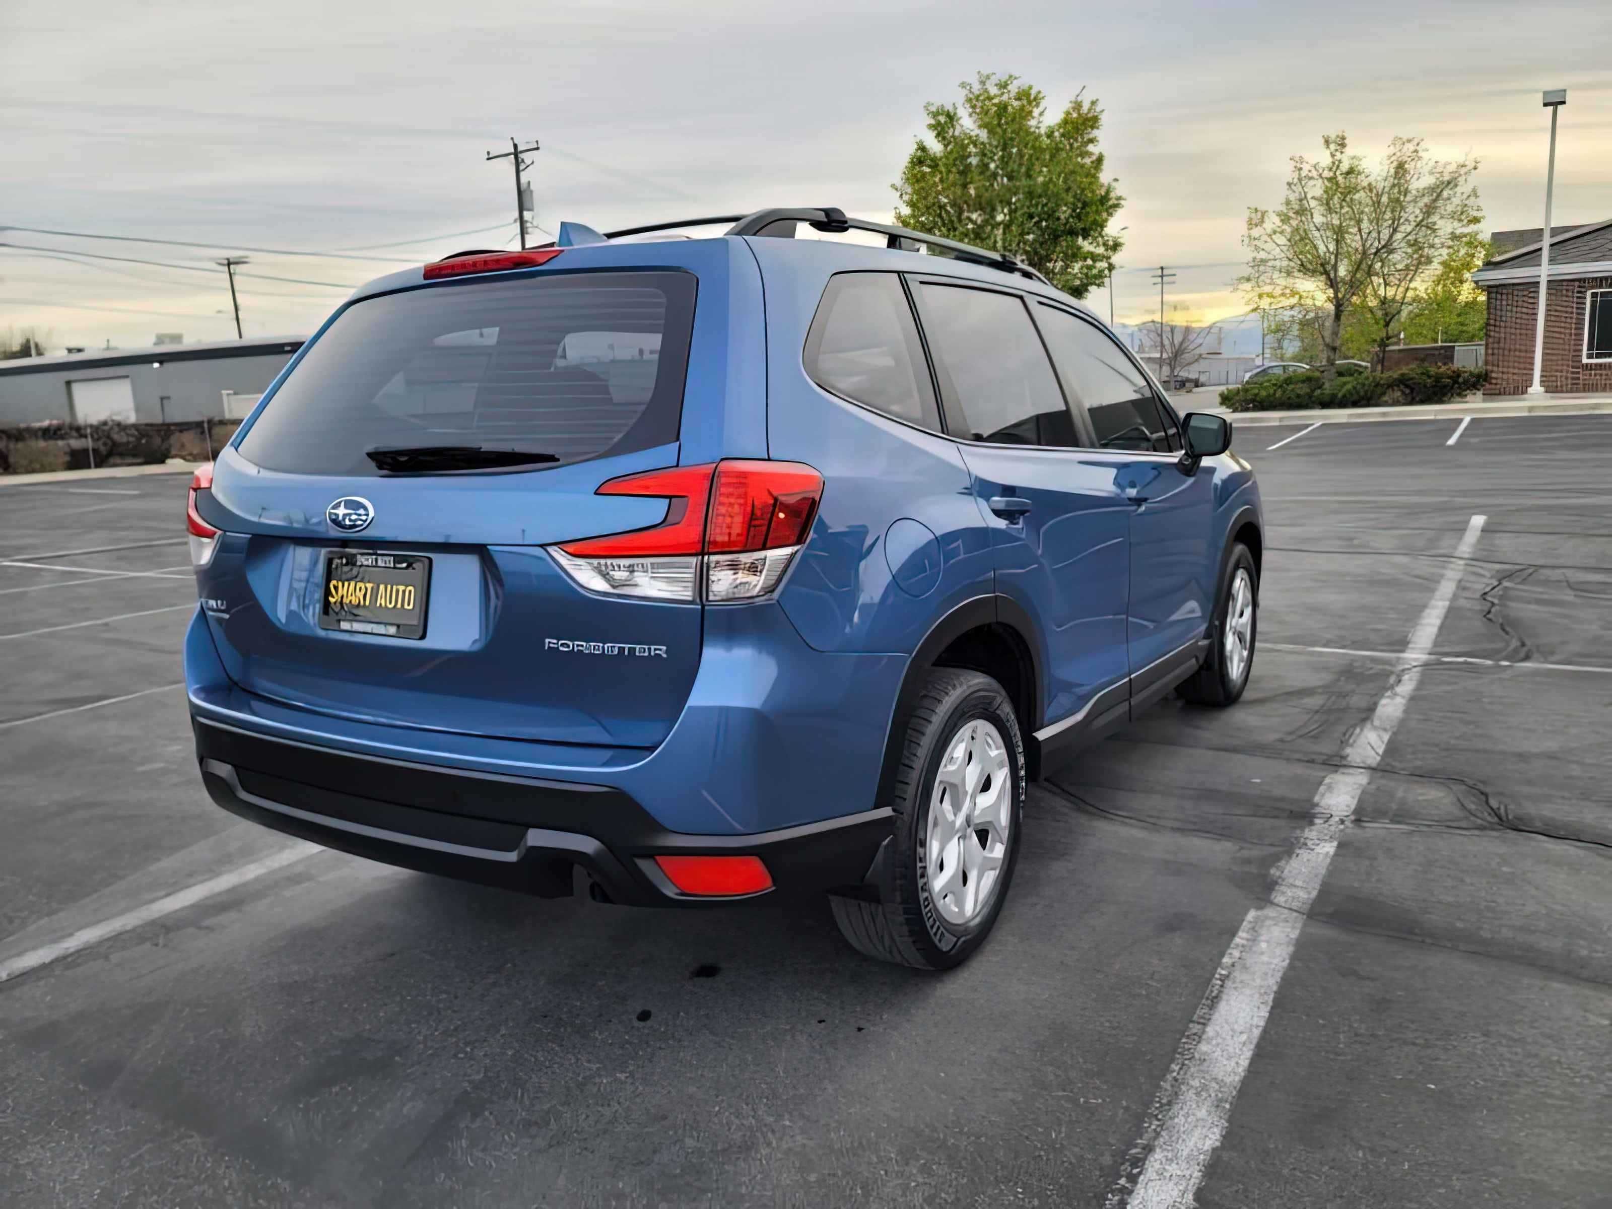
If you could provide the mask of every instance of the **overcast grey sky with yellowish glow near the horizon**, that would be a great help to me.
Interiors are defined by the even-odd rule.
[[[899,0],[0,0],[0,224],[218,242],[219,251],[0,232],[210,268],[240,247],[414,263],[513,237],[508,161],[540,139],[537,221],[600,229],[771,205],[887,218],[925,100],[1017,73],[1106,110],[1127,198],[1117,318],[1244,310],[1249,205],[1288,156],[1348,131],[1478,156],[1491,229],[1538,226],[1548,113],[1568,89],[1556,218],[1612,218],[1612,3],[901,3]],[[451,237],[505,222],[506,229]],[[422,239],[424,237],[424,239]],[[251,255],[248,272],[353,285],[385,261]],[[248,335],[310,332],[342,289],[242,279]],[[1104,292],[1088,300],[1107,310]],[[98,308],[98,310],[92,310]],[[53,345],[234,335],[222,276],[0,250],[0,327]]]

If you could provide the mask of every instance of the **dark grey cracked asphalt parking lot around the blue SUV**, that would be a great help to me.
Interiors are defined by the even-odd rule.
[[[821,901],[529,899],[237,822],[179,687],[185,479],[0,487],[0,1201],[1125,1204],[1391,701],[1196,1203],[1612,1206],[1612,416],[1457,424],[1238,432],[1248,695],[1032,790],[940,977]]]

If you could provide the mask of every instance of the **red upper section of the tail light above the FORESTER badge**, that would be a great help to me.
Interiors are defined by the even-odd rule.
[[[577,558],[753,553],[806,540],[822,498],[822,476],[798,461],[722,461],[629,474],[596,495],[659,495],[671,503],[651,529],[566,542]]]

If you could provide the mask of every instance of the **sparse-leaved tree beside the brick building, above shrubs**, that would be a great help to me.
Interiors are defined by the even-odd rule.
[[[1394,139],[1369,169],[1344,134],[1322,137],[1325,156],[1293,156],[1277,210],[1248,211],[1248,272],[1257,306],[1320,314],[1320,361],[1340,358],[1349,318],[1381,351],[1452,247],[1483,221],[1477,161],[1440,163],[1420,139]]]

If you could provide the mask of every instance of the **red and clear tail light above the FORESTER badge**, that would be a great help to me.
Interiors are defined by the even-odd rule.
[[[793,461],[721,461],[611,479],[598,495],[667,500],[650,529],[550,546],[592,592],[646,600],[756,600],[783,579],[822,500],[822,476]]]

